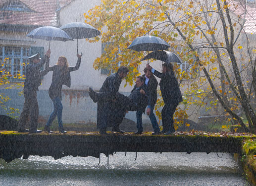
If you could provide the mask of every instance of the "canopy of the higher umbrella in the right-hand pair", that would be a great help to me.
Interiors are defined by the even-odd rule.
[[[128,49],[135,51],[156,51],[156,50],[167,50],[170,47],[161,38],[155,36],[141,36],[135,38]]]

